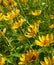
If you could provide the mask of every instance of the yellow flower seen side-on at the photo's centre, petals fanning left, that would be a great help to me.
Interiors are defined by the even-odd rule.
[[[28,32],[26,32],[25,36],[31,38],[38,32],[40,20],[38,20],[34,25],[28,26]]]

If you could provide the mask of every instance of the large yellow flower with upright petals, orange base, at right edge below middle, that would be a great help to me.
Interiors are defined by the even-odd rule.
[[[35,40],[35,44],[39,46],[48,46],[50,43],[54,42],[54,35],[47,34],[46,36],[39,36],[39,41]]]

